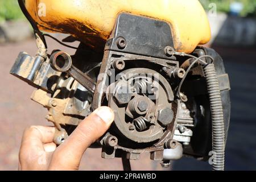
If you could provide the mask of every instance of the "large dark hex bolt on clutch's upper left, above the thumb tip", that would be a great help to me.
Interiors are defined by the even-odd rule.
[[[127,86],[117,86],[114,91],[114,98],[119,104],[127,104],[131,100],[131,92]]]

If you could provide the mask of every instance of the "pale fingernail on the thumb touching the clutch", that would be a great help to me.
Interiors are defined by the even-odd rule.
[[[114,121],[114,112],[109,107],[98,107],[93,113],[97,114],[108,126]]]

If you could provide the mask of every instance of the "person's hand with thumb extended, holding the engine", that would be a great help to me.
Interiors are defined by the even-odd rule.
[[[77,170],[86,148],[100,138],[114,120],[109,107],[99,107],[56,147],[55,127],[31,126],[23,133],[19,170]]]

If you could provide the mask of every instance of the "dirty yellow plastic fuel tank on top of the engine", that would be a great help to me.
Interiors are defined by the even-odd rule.
[[[26,0],[40,30],[71,34],[93,47],[109,38],[119,13],[164,20],[174,47],[191,53],[210,40],[207,15],[198,0]]]

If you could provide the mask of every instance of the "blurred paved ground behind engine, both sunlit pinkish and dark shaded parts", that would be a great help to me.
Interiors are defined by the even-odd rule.
[[[49,48],[65,50],[59,44],[48,40]],[[254,49],[216,48],[225,60],[226,71],[232,85],[232,118],[226,154],[226,169],[256,169],[256,52]],[[47,125],[46,109],[31,101],[34,88],[9,74],[20,51],[34,55],[35,41],[0,46],[0,170],[15,170],[18,167],[20,139],[25,127]],[[69,52],[71,53],[70,49]],[[105,160],[100,149],[86,151],[81,162],[85,170],[122,169],[121,160]],[[157,162],[151,162],[149,155],[131,163],[133,169],[162,169]],[[210,169],[207,163],[195,159],[182,159],[174,163],[174,169]]]

